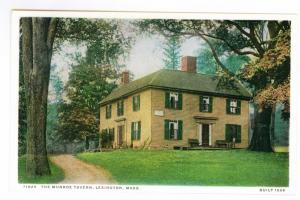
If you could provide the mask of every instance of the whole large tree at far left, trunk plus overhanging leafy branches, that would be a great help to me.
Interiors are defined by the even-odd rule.
[[[114,52],[115,57],[109,58],[107,55],[110,52],[106,49],[118,50],[118,48],[109,47],[115,47],[120,42],[126,43],[128,40],[123,35],[116,37],[113,34],[118,30],[117,23],[113,24],[113,29],[109,24],[106,20],[96,19],[21,19],[22,45],[20,45],[20,51],[26,97],[26,173],[28,176],[50,174],[46,150],[46,122],[50,63],[53,51],[59,50],[64,41],[86,45],[93,45],[94,41],[101,41],[103,42],[101,48],[106,52],[101,54],[104,60],[115,59],[122,52]],[[109,37],[113,38],[107,40]],[[99,38],[103,38],[103,40],[99,40]],[[102,60],[103,57],[98,59]]]

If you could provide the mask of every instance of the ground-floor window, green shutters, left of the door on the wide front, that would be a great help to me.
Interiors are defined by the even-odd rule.
[[[165,139],[182,140],[182,121],[165,120]]]

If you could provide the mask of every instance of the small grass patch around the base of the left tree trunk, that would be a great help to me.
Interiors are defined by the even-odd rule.
[[[27,177],[26,176],[26,156],[19,157],[18,160],[18,179],[19,183],[58,183],[64,179],[64,172],[58,166],[54,165],[51,161],[50,169],[51,175],[49,176],[36,176],[36,177]]]

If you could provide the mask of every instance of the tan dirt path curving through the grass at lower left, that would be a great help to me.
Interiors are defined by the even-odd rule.
[[[50,160],[61,167],[65,173],[65,179],[60,183],[80,184],[114,184],[111,175],[106,170],[87,164],[72,155],[51,156]]]

